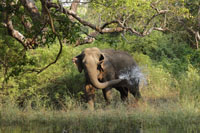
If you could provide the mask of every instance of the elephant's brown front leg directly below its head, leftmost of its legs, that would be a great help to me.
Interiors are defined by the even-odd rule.
[[[90,110],[94,110],[95,87],[92,86],[91,84],[86,84],[85,94],[88,103],[88,108]]]

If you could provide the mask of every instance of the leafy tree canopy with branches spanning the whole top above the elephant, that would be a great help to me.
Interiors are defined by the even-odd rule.
[[[70,8],[66,3],[71,3]],[[86,15],[96,15],[88,19],[80,17],[77,13],[80,4],[88,5]],[[144,37],[154,30],[184,30],[189,40],[195,40],[196,48],[200,41],[198,0],[2,0],[0,10],[1,28],[7,30],[7,34],[22,44],[24,49],[53,43],[56,38],[59,41],[60,51],[56,59],[46,67],[34,70],[38,73],[56,63],[64,39],[70,43],[76,42],[78,46],[93,42],[99,34]],[[184,28],[179,28],[181,26]],[[85,38],[80,37],[80,31],[86,34]]]

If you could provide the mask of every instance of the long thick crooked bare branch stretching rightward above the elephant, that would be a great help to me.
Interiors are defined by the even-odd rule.
[[[79,0],[74,0],[74,2],[79,1]],[[146,35],[149,35],[153,30],[157,30],[157,31],[166,31],[168,30],[167,28],[161,28],[161,27],[152,27],[149,30],[147,30],[147,26],[150,24],[150,22],[158,15],[161,14],[165,14],[168,12],[168,10],[159,10],[157,9],[154,5],[151,5],[153,9],[156,10],[156,14],[153,15],[146,23],[143,32],[138,32],[133,28],[130,27],[126,27],[125,24],[121,23],[119,20],[113,20],[110,22],[106,22],[105,24],[103,24],[102,26],[96,26],[88,21],[85,21],[84,19],[82,19],[81,17],[79,17],[75,11],[73,10],[68,10],[66,8],[64,8],[62,5],[58,5],[56,3],[47,1],[47,7],[48,8],[56,8],[57,10],[59,10],[60,12],[68,15],[68,16],[72,16],[75,20],[77,20],[79,23],[81,23],[83,26],[87,26],[93,30],[95,30],[96,32],[100,33],[100,34],[104,34],[104,33],[114,33],[114,32],[126,32],[126,31],[130,31],[131,33],[133,33],[134,35],[140,36],[140,37],[144,37]],[[62,10],[61,10],[62,9]],[[117,27],[115,28],[106,28],[111,24],[117,24]],[[98,34],[95,34],[95,36]],[[76,46],[77,45],[81,45],[83,44],[83,42],[86,43],[91,43],[92,41],[95,40],[95,36],[92,37],[86,37],[84,40],[82,40],[82,42],[79,40],[76,42]]]

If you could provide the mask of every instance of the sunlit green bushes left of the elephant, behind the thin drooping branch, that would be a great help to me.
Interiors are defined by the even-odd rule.
[[[4,47],[5,48],[5,47]],[[58,64],[52,66],[48,71],[37,75],[30,70],[33,68],[43,67],[48,64],[51,59],[57,54],[58,46],[54,45],[51,48],[40,48],[37,50],[29,51],[26,56],[26,60],[29,63],[25,63],[25,60],[11,54],[8,55],[8,59],[13,59],[14,62],[8,62],[7,73],[9,80],[7,79],[6,87],[2,90],[2,98],[9,96],[11,100],[16,101],[20,106],[23,106],[27,102],[31,102],[34,106],[47,106],[52,105],[64,106],[65,102],[71,102],[71,98],[80,99],[83,95],[83,76],[78,75],[71,59],[77,53],[71,47],[64,48],[62,58],[60,58]],[[52,52],[52,50],[54,52]],[[74,51],[74,52],[73,52]],[[4,53],[5,55],[5,53]],[[20,56],[21,57],[21,56]],[[22,61],[25,64],[19,64]],[[33,62],[33,64],[30,63]],[[2,71],[4,69],[1,69]],[[4,78],[7,78],[4,77]],[[1,79],[6,80],[6,79]],[[79,80],[79,83],[75,83]],[[4,83],[5,84],[5,83]],[[3,82],[1,83],[3,86]],[[76,89],[74,89],[76,88]],[[5,92],[5,93],[4,93]],[[68,106],[68,105],[67,105]]]

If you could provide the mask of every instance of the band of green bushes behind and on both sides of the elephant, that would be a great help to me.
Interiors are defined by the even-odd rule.
[[[7,70],[8,74],[5,75],[7,79],[1,78],[1,85],[4,87],[1,90],[1,113],[4,116],[2,118],[6,120],[8,116],[4,113],[9,112],[7,108],[10,110],[13,107],[19,108],[19,111],[22,110],[24,113],[32,109],[35,111],[63,110],[66,112],[70,110],[74,112],[77,109],[84,110],[84,75],[77,71],[71,59],[85,47],[92,46],[129,51],[141,67],[147,80],[147,85],[141,88],[144,102],[139,103],[138,106],[134,105],[134,98],[130,97],[129,100],[133,101],[131,102],[133,105],[122,106],[119,93],[113,90],[111,108],[118,108],[119,112],[126,110],[126,108],[132,108],[137,110],[136,117],[143,116],[144,119],[146,119],[145,115],[148,118],[151,117],[149,115],[154,116],[155,112],[162,112],[166,115],[173,115],[174,112],[177,112],[177,117],[183,113],[185,120],[188,120],[185,117],[188,117],[189,120],[192,119],[190,117],[198,118],[200,108],[199,51],[190,48],[184,42],[173,42],[171,37],[172,35],[166,36],[154,32],[142,39],[132,38],[131,44],[119,40],[115,46],[107,41],[96,41],[93,44],[77,48],[64,46],[58,62],[40,74],[28,70],[48,64],[56,55],[58,44],[26,52],[25,57],[21,59],[25,62],[22,64],[17,64],[19,62],[18,56],[7,54],[7,59],[12,59],[7,61],[13,62],[13,65],[9,66]],[[14,48],[14,46],[7,47],[5,51],[15,52]],[[2,67],[2,75],[4,71],[5,69]],[[102,92],[97,91],[96,93],[96,109],[104,108],[105,102]],[[16,110],[18,110],[17,108]],[[131,112],[129,111],[129,113]],[[173,116],[170,117],[173,118]],[[139,117],[138,119],[142,120],[143,118]],[[161,118],[161,120],[163,119],[165,118]],[[188,122],[193,123],[189,120]],[[195,123],[198,121],[198,119],[194,120]],[[159,123],[159,121],[157,122]],[[166,123],[170,124],[168,121]]]

